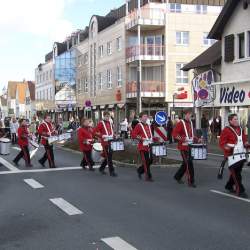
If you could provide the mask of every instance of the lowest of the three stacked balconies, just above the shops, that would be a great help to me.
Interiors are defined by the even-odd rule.
[[[137,82],[131,81],[126,85],[126,97],[135,98],[137,96]],[[142,81],[141,97],[164,97],[165,84],[161,81]]]

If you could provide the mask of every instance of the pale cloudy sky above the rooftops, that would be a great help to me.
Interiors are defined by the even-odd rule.
[[[0,90],[9,80],[34,80],[55,41],[63,41],[125,0],[2,0],[0,8]]]

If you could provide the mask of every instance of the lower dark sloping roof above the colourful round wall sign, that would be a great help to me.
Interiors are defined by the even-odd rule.
[[[219,64],[221,62],[221,42],[218,41],[205,50],[202,54],[197,56],[193,61],[186,64],[182,70],[188,71],[190,69],[200,68],[212,64]]]

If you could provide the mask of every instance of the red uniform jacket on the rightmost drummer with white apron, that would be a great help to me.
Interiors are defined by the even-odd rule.
[[[235,130],[237,135],[240,135],[240,127],[235,127],[233,129]],[[243,144],[245,145],[247,143],[247,136],[244,130],[242,130],[242,140],[243,140]],[[237,143],[237,137],[235,133],[231,130],[231,128],[225,127],[221,132],[220,141],[219,141],[220,147],[224,151],[225,157],[228,157],[233,154],[233,148],[226,149],[225,148],[226,144],[236,144],[236,143]]]

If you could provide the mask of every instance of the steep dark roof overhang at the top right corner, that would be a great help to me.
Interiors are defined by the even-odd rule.
[[[224,5],[220,15],[218,16],[217,20],[215,21],[214,26],[212,27],[211,31],[208,34],[208,38],[213,38],[220,40],[223,30],[232,16],[235,8],[240,3],[241,0],[227,0],[226,4]],[[245,0],[250,3],[250,0]]]

